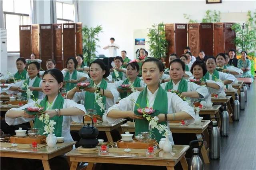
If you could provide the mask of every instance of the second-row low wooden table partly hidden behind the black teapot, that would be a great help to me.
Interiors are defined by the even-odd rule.
[[[111,136],[110,131],[117,129],[119,131],[120,134],[122,134],[122,128],[120,128],[120,126],[124,123],[124,121],[126,121],[126,119],[122,119],[121,121],[119,121],[118,123],[115,124],[108,124],[108,123],[104,123],[101,122],[99,124],[94,124],[95,127],[99,130],[99,131],[103,131],[106,133],[106,136],[108,138],[108,141],[113,141],[113,138]],[[84,126],[83,123],[75,123],[75,122],[71,122],[70,124],[70,130],[80,130],[80,128],[82,128]]]

